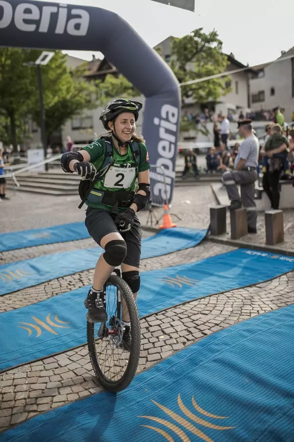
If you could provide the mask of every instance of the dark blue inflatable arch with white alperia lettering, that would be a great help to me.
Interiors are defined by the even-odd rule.
[[[166,63],[118,14],[99,7],[0,0],[0,45],[99,50],[146,97],[143,134],[157,199],[172,199],[180,116],[179,84]],[[165,170],[165,184],[162,169]],[[165,191],[166,189],[166,195]]]

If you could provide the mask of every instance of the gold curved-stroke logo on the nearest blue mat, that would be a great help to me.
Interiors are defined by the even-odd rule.
[[[163,405],[158,404],[157,402],[153,401],[152,399],[151,399],[151,402],[153,404],[155,404],[160,410],[162,410],[167,416],[172,418],[177,424],[182,426],[185,430],[188,430],[190,433],[192,433],[193,435],[197,436],[198,438],[200,438],[206,442],[214,442],[214,441],[209,436],[207,436],[205,433],[203,433],[201,430],[199,430],[197,427],[195,427],[195,425],[193,425],[190,421],[193,421],[196,424],[202,425],[202,426],[210,428],[212,430],[218,430],[218,431],[231,430],[231,429],[235,428],[235,427],[223,427],[220,425],[211,424],[210,422],[196,416],[194,413],[192,413],[190,410],[188,410],[188,408],[183,404],[180,394],[178,394],[178,397],[177,397],[177,405],[178,405],[179,409],[181,410],[181,412],[187,418],[189,418],[190,421],[182,418],[180,415],[174,413],[173,411],[169,410],[168,408],[164,407]],[[197,410],[197,412],[201,413],[203,416],[207,416],[207,417],[213,418],[213,419],[228,419],[227,417],[224,417],[224,416],[212,415],[211,413],[208,413],[207,411],[203,410],[195,402],[194,397],[192,397],[192,405],[195,408],[195,410]],[[186,432],[183,431],[177,425],[173,424],[172,422],[166,421],[165,419],[157,418],[155,416],[138,416],[138,418],[149,419],[150,421],[154,421],[158,424],[161,424],[162,426],[165,426],[167,429],[169,429],[173,433],[175,433],[180,438],[181,441],[191,442],[188,435],[186,434]],[[165,432],[157,427],[153,427],[153,426],[149,426],[149,425],[141,425],[140,427],[149,428],[150,430],[160,433],[167,441],[174,442],[173,438],[167,432]]]

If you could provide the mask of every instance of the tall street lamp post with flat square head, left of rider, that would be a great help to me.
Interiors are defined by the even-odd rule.
[[[43,102],[41,65],[47,64],[51,60],[53,55],[54,52],[44,50],[36,61],[29,61],[28,63],[23,63],[25,66],[35,66],[37,69],[37,80],[38,80],[39,100],[40,100],[40,117],[41,117],[41,142],[44,150],[44,159],[47,158],[47,138],[46,138],[45,110]],[[45,163],[45,170],[48,171],[47,163]]]

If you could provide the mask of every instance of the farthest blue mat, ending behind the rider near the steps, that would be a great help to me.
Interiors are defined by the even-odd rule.
[[[61,224],[43,229],[22,230],[0,234],[0,252],[43,244],[90,238],[85,223]]]

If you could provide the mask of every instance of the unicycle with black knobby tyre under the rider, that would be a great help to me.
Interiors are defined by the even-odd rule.
[[[104,287],[105,323],[87,321],[87,343],[91,363],[99,383],[109,392],[124,390],[132,382],[139,363],[141,328],[136,301],[129,285],[115,269]],[[132,342],[123,342],[122,317],[128,309]]]

